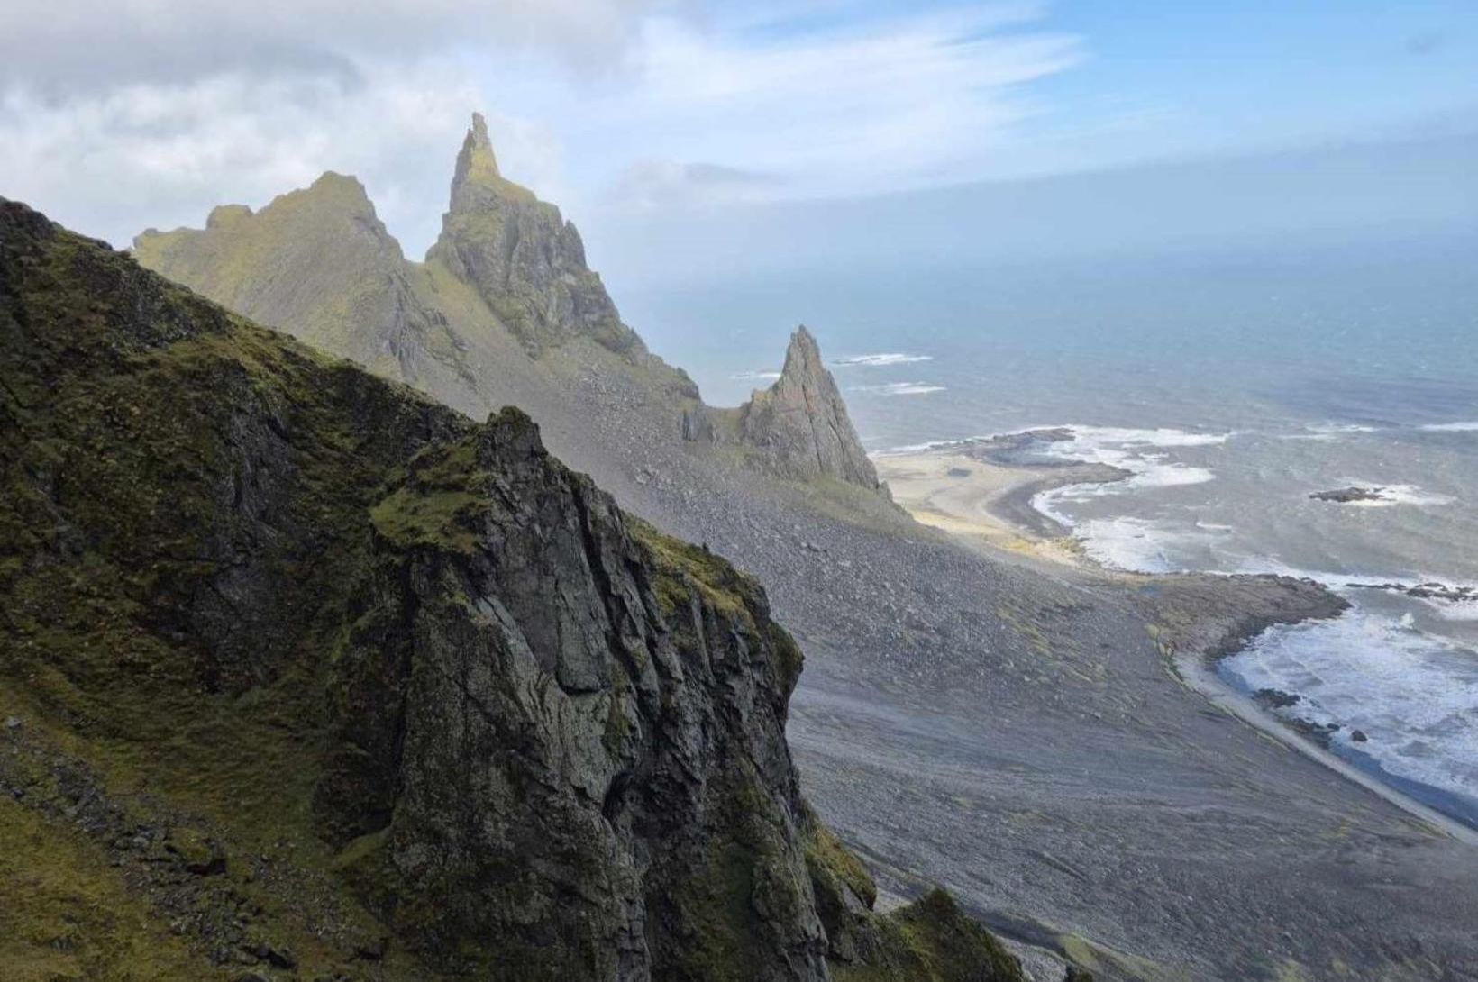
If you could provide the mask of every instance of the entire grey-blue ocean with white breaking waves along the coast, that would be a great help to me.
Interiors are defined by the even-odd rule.
[[[1132,475],[1033,504],[1104,566],[1327,583],[1348,613],[1267,631],[1222,678],[1296,696],[1270,712],[1478,824],[1475,260],[1474,233],[1310,236],[618,300],[721,405],[806,322],[872,452],[1072,428],[1038,452]],[[1372,496],[1311,498],[1346,489]]]

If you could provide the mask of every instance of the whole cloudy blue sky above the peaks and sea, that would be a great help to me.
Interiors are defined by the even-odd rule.
[[[1222,186],[1253,224],[1385,220],[1472,204],[1475,65],[1472,0],[6,0],[0,196],[126,245],[337,170],[415,258],[482,109],[504,173],[633,276],[837,208],[1039,230],[1002,188],[1082,202],[1046,211],[1064,239],[1103,195],[1178,216]]]

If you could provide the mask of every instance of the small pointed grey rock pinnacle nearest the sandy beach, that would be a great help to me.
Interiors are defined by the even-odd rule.
[[[739,439],[760,450],[766,465],[783,477],[831,477],[881,487],[837,381],[804,326],[791,335],[780,378],[739,408]]]

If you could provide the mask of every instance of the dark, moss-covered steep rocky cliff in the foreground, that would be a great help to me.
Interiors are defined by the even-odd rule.
[[[871,913],[764,592],[0,202],[0,975],[1015,979]]]

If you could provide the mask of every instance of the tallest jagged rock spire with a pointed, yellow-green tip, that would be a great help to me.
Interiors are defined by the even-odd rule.
[[[451,208],[427,261],[473,284],[534,353],[579,335],[634,359],[646,354],[585,264],[573,223],[498,171],[482,115],[473,115],[457,155]]]

